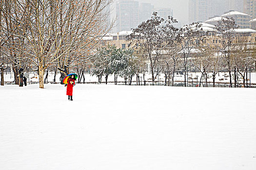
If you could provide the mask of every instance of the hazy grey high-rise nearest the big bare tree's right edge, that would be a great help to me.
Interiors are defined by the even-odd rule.
[[[118,0],[116,2],[116,32],[130,31],[139,24],[139,6],[135,0]]]

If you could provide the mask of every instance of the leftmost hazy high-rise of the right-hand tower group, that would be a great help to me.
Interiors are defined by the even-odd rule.
[[[189,22],[205,21],[212,16],[212,0],[189,0]]]

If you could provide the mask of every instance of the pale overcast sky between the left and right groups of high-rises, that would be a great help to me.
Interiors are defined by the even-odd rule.
[[[188,22],[188,1],[189,0],[138,0],[139,2],[148,2],[155,5],[156,8],[172,8],[174,17],[182,25]]]

